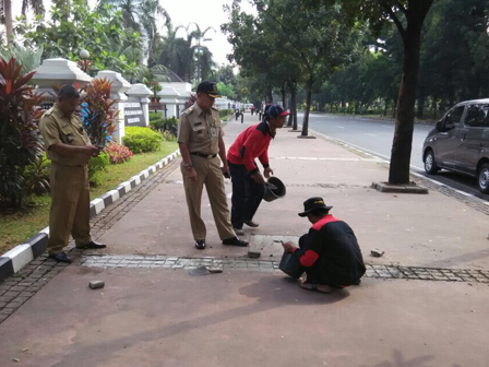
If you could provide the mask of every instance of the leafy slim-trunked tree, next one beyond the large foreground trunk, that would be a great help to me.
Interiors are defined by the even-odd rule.
[[[258,16],[253,19],[239,13],[239,2],[235,0],[229,11],[231,21],[224,26],[224,31],[230,34],[228,39],[234,45],[234,58],[238,64],[249,58],[258,59],[254,63],[262,64],[260,71],[266,72],[271,84],[278,87],[286,81],[284,71],[289,70],[283,68],[284,58],[289,66],[297,66],[306,87],[302,135],[307,135],[311,95],[318,73],[332,73],[336,66],[345,61],[355,44],[350,28],[342,21],[341,8],[320,4],[311,10],[306,7],[305,0],[253,0],[258,9]],[[253,38],[251,45],[254,47],[243,42],[243,34]],[[257,47],[257,39],[260,38],[262,43]],[[263,48],[262,54],[259,54],[260,47]],[[248,58],[241,56],[247,48],[254,51]],[[253,63],[253,60],[250,62]],[[278,70],[281,68],[282,71]]]

